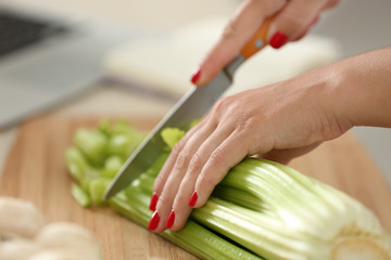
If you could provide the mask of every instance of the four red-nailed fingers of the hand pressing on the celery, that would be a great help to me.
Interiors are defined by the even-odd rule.
[[[211,122],[204,123],[179,143],[179,148],[160,173],[163,177],[155,184],[159,200],[150,230],[180,230],[192,207],[204,205],[215,185],[248,154],[239,134],[243,128],[238,128],[235,121],[216,128],[211,127]],[[198,132],[202,134],[194,136]]]

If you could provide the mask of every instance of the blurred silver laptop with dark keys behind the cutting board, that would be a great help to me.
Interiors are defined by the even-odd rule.
[[[97,86],[105,54],[139,35],[1,3],[0,130]]]

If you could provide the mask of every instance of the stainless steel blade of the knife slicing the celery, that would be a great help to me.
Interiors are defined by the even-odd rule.
[[[191,120],[201,118],[231,84],[230,76],[230,73],[223,70],[210,83],[190,89],[128,158],[111,182],[104,197],[110,198],[128,186],[156,160],[165,146],[161,138],[164,128],[184,128]]]

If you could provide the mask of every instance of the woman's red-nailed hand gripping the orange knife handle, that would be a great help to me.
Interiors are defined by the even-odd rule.
[[[301,39],[321,11],[339,0],[245,0],[234,14],[211,52],[194,72],[191,81],[202,86],[214,78],[251,39],[265,18],[275,15],[268,30],[268,44],[275,49]]]

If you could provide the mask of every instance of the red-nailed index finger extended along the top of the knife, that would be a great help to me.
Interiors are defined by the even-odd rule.
[[[279,10],[286,0],[247,0],[225,27],[211,52],[192,75],[191,81],[202,86],[214,78],[255,34],[264,20]]]

